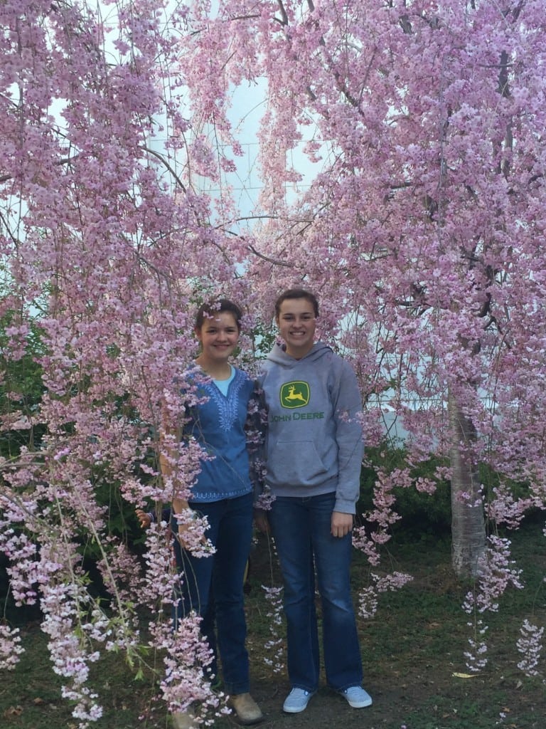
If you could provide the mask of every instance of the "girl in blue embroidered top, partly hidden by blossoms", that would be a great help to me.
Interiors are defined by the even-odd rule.
[[[173,499],[172,528],[182,577],[178,617],[191,610],[198,612],[202,633],[213,651],[216,622],[224,688],[240,722],[253,724],[262,714],[249,693],[243,583],[253,523],[245,424],[255,383],[229,363],[239,339],[241,317],[240,308],[227,299],[202,305],[197,312],[195,333],[201,352],[195,360],[199,368],[190,377],[202,402],[192,408],[182,437],[194,437],[212,458],[200,464],[189,502]],[[165,461],[162,472],[170,475]],[[205,536],[215,547],[211,556],[194,557],[185,548],[187,527],[178,523],[176,515],[188,507],[207,517]]]

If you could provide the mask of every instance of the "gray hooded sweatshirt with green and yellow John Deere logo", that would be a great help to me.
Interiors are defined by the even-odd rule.
[[[355,513],[360,491],[362,401],[352,367],[321,342],[294,359],[276,344],[260,378],[268,410],[266,483],[275,496],[336,492]]]

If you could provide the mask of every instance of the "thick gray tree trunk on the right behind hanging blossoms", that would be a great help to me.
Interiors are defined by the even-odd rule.
[[[448,395],[451,430],[451,564],[457,577],[476,577],[486,549],[480,476],[472,456],[475,427]]]

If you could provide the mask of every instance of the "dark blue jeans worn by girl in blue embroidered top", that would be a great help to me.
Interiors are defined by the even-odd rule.
[[[216,552],[210,557],[194,557],[181,549],[175,539],[176,563],[181,574],[181,601],[175,624],[191,610],[201,615],[202,634],[216,655],[216,623],[226,693],[247,693],[247,626],[242,588],[252,539],[253,494],[218,502],[191,502],[190,506],[207,517],[209,528],[205,534]],[[174,518],[171,526],[176,533]],[[211,672],[218,673],[216,660]]]

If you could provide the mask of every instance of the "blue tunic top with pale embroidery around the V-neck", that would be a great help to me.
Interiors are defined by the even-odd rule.
[[[191,408],[183,436],[194,437],[213,458],[201,461],[190,504],[235,499],[253,491],[245,424],[255,385],[242,370],[233,370],[226,395],[212,380],[196,378],[197,396],[208,399]]]

